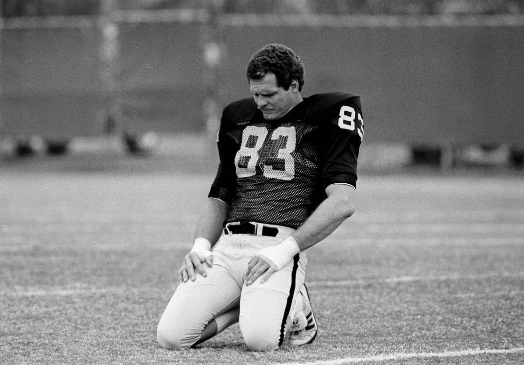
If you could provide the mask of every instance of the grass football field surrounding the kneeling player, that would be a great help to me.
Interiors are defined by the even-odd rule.
[[[254,353],[234,325],[173,352],[156,325],[213,173],[40,162],[0,164],[2,364],[524,363],[521,173],[361,174],[308,252],[312,345]]]

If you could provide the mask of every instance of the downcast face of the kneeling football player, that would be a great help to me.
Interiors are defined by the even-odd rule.
[[[280,119],[300,102],[297,98],[297,96],[300,97],[300,94],[298,94],[296,82],[285,90],[282,86],[277,86],[277,78],[273,73],[267,73],[260,79],[251,79],[249,85],[264,119]]]

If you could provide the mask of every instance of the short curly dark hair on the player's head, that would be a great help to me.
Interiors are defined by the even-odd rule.
[[[286,45],[272,43],[259,49],[247,64],[247,81],[263,78],[267,73],[275,74],[277,86],[288,90],[293,80],[298,90],[304,85],[304,65],[293,50]]]

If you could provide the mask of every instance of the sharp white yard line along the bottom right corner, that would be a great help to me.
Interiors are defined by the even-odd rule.
[[[281,365],[341,365],[352,363],[377,362],[388,360],[403,360],[403,359],[424,359],[424,358],[449,358],[460,356],[474,356],[474,355],[506,355],[509,353],[524,352],[524,347],[516,347],[511,349],[470,349],[460,351],[444,351],[444,352],[414,352],[414,353],[393,353],[391,355],[374,355],[366,357],[346,357],[341,359],[314,361],[314,362],[289,362]]]

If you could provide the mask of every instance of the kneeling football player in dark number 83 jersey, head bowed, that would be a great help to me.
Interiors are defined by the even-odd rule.
[[[355,211],[359,97],[303,98],[302,62],[281,44],[252,56],[247,79],[252,97],[223,110],[218,172],[158,324],[168,349],[237,321],[252,350],[311,343],[305,251]]]

